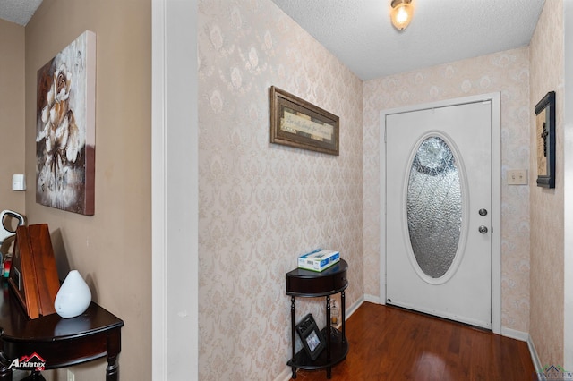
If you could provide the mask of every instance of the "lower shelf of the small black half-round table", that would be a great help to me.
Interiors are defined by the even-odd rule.
[[[321,330],[323,337],[326,337],[326,329]],[[289,367],[301,368],[306,370],[316,370],[332,367],[338,362],[345,360],[348,354],[348,341],[343,340],[342,333],[338,329],[330,328],[330,360],[328,360],[327,349],[321,351],[316,360],[312,360],[304,348],[296,353],[295,359],[289,360],[286,364]]]

